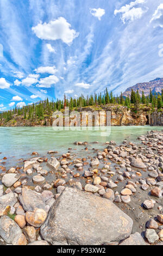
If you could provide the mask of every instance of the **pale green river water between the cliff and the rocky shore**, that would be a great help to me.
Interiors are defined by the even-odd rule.
[[[27,153],[37,151],[40,154],[48,150],[67,152],[74,147],[75,141],[99,141],[98,148],[106,141],[114,140],[121,143],[124,139],[135,141],[147,131],[162,130],[163,127],[150,126],[121,126],[111,127],[111,131],[54,131],[52,127],[0,127],[0,152],[3,156],[23,157]],[[81,149],[81,147],[77,147]]]

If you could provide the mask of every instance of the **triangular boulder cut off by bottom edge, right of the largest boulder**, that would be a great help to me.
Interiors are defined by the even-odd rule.
[[[122,241],[120,245],[147,245],[147,243],[143,240],[143,237],[136,232],[135,234],[130,235],[126,240]]]

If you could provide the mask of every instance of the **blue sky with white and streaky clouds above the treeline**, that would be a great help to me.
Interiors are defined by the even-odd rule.
[[[0,111],[163,77],[162,0],[0,0]]]

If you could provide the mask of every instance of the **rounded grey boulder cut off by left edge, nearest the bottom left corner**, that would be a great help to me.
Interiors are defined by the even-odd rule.
[[[15,237],[22,234],[20,227],[8,216],[3,216],[0,219],[0,236],[7,242],[12,243]]]

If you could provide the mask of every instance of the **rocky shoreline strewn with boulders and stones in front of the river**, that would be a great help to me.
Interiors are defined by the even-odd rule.
[[[1,160],[0,243],[162,245],[163,130],[103,151],[76,145],[85,157],[69,148],[9,169]]]

